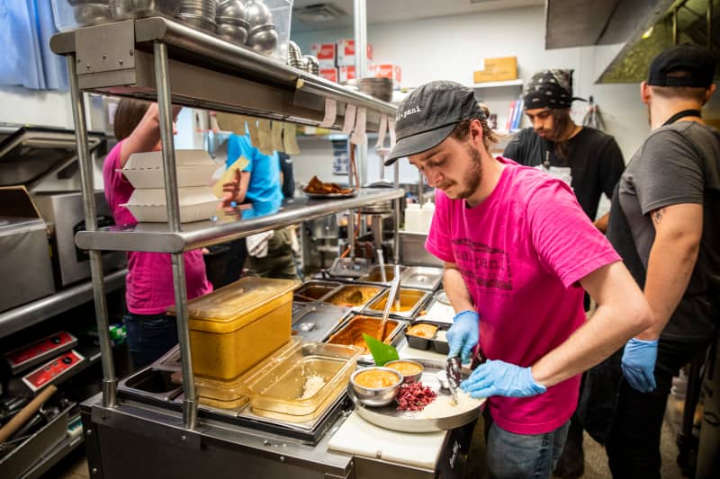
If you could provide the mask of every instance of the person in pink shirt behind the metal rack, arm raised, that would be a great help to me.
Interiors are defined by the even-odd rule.
[[[175,117],[179,108],[174,108]],[[160,128],[157,103],[122,99],[115,111],[114,132],[118,139],[103,164],[105,198],[112,209],[115,224],[137,223],[128,208],[121,207],[130,199],[134,188],[118,170],[133,153],[159,151]],[[176,131],[175,131],[176,133]],[[187,298],[211,292],[205,275],[200,250],[184,253]],[[173,271],[169,253],[128,253],[126,302],[128,345],[135,368],[158,359],[177,343],[174,316],[166,310],[175,304]]]

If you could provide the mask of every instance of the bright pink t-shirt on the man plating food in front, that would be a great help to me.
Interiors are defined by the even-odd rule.
[[[485,357],[527,367],[585,322],[577,281],[620,257],[564,182],[498,160],[505,164],[500,182],[477,207],[436,191],[426,248],[462,273],[480,314]],[[570,419],[579,388],[576,376],[544,395],[495,396],[488,405],[505,430],[545,433]]]

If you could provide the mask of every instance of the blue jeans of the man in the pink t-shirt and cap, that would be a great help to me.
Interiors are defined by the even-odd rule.
[[[545,434],[515,434],[494,421],[488,431],[491,479],[550,477],[563,452],[570,421]]]

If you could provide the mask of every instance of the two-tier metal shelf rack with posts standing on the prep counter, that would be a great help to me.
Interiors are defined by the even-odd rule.
[[[183,252],[365,204],[395,200],[397,205],[403,191],[360,191],[356,198],[327,202],[298,200],[286,203],[280,212],[266,217],[182,225],[171,105],[318,125],[324,116],[325,100],[333,99],[340,102],[336,126],[341,126],[346,104],[353,104],[367,109],[369,130],[378,129],[381,117],[394,115],[396,108],[165,18],[130,20],[59,33],[50,40],[50,47],[67,59],[86,223],[86,231],[76,235],[76,244],[88,249],[90,254],[103,364],[103,408],[109,411],[118,404],[100,251],[171,253],[184,384],[182,430],[186,432],[182,438],[194,437],[190,433],[198,427],[198,408],[187,324]],[[82,92],[157,99],[167,225],[139,224],[131,230],[98,231]],[[396,215],[395,244],[398,244],[397,220]],[[104,412],[102,417],[105,418]]]

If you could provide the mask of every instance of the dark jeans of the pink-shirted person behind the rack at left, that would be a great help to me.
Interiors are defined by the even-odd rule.
[[[149,363],[177,344],[175,316],[168,315],[125,315],[128,331],[128,348],[135,369]]]

